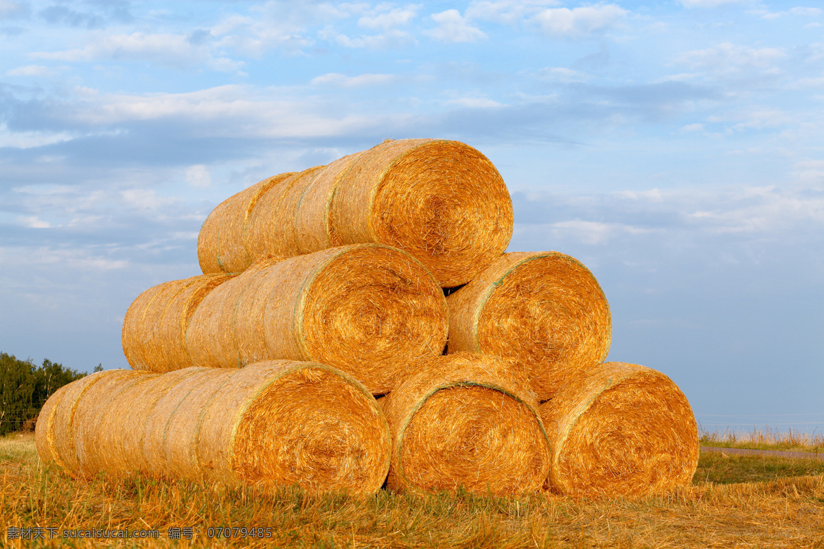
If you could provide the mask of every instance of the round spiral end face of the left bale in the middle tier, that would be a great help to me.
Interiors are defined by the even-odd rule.
[[[440,355],[447,341],[438,282],[398,249],[339,249],[303,295],[298,322],[307,358],[344,370],[375,394],[391,391],[411,361]]]

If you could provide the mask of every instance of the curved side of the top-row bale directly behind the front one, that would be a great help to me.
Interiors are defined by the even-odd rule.
[[[363,151],[331,162],[323,170],[318,171],[303,189],[295,212],[295,231],[300,254],[310,254],[341,245],[340,239],[332,230],[330,208],[340,178],[361,155]]]

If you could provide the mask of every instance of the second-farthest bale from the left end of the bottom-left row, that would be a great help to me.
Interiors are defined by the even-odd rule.
[[[110,404],[119,393],[132,384],[147,379],[148,374],[136,370],[108,370],[111,373],[90,384],[77,400],[74,412],[72,435],[77,458],[75,473],[88,477],[106,471],[111,458],[110,448],[101,440],[105,433],[105,423],[111,419]]]

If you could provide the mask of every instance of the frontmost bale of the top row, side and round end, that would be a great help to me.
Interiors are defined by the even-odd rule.
[[[513,207],[494,165],[468,145],[386,141],[340,178],[330,208],[342,244],[403,249],[441,286],[470,281],[506,249]]]

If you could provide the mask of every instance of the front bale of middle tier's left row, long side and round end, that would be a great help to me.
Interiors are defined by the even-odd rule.
[[[204,366],[321,362],[377,394],[411,361],[439,355],[447,325],[446,300],[423,265],[356,244],[255,263],[204,299],[187,346]]]

